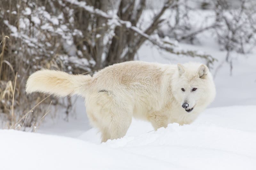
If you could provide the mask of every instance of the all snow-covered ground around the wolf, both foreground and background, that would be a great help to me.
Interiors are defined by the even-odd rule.
[[[211,34],[200,36],[201,44],[180,46],[217,58],[215,74],[226,53],[218,50]],[[100,133],[89,125],[79,98],[68,122],[60,110],[57,118],[45,118],[38,133],[0,130],[0,169],[255,170],[256,50],[253,53],[232,54],[232,76],[223,63],[214,79],[216,99],[193,124],[152,131],[148,122],[132,120],[124,138],[100,144]],[[159,52],[148,43],[138,57],[160,63],[201,62]]]

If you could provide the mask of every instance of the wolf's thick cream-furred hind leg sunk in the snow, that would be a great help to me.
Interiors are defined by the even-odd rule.
[[[93,100],[93,101],[92,101]],[[122,138],[132,122],[129,96],[98,94],[88,104],[88,117],[101,132],[101,142]]]

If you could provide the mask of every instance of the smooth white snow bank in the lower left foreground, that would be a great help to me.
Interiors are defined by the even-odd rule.
[[[0,169],[167,169],[167,162],[82,140],[0,130]],[[176,167],[176,166],[171,166]]]

